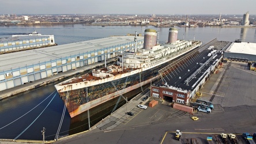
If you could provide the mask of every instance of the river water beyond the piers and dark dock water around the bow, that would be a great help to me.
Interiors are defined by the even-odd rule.
[[[10,37],[11,35],[31,33],[36,29],[37,32],[42,33],[43,35],[54,35],[55,43],[58,43],[60,45],[74,43],[77,41],[99,39],[112,35],[123,36],[127,35],[127,33],[135,33],[135,31],[143,34],[145,29],[147,28],[156,29],[153,26],[0,26],[0,37]],[[191,40],[195,37],[195,40],[201,40],[206,43],[217,37],[217,40],[223,41],[234,41],[235,39],[242,39],[242,41],[246,42],[256,42],[255,28],[177,28],[179,29],[178,39],[183,39],[184,37],[185,40]],[[168,30],[169,28],[159,28],[159,43],[164,43],[168,39]],[[50,96],[51,93],[53,94]],[[59,98],[58,94],[54,97],[55,93],[56,91],[54,88],[54,84],[50,84],[43,88],[30,90],[29,92],[19,94],[16,97],[11,97],[6,100],[0,101],[0,138],[42,140],[41,131],[43,130],[43,127],[45,127],[46,139],[54,139],[59,127],[59,122],[61,120],[64,107],[64,104],[61,98]],[[47,98],[48,96],[50,97]],[[45,100],[46,98],[47,100]],[[51,101],[51,99],[52,102],[42,113],[42,111]],[[45,101],[40,104],[43,100]],[[36,107],[36,105],[38,104],[40,105]],[[33,109],[34,107],[36,108]],[[29,112],[31,109],[33,110]],[[104,113],[109,113],[111,110],[112,109],[107,109],[107,111],[103,112],[102,115],[105,115]],[[29,112],[27,115],[20,118],[27,112]],[[40,115],[40,113],[42,113],[42,115]],[[81,115],[71,120],[69,113],[66,112],[59,135],[63,136],[67,134],[72,134],[77,131],[86,130],[86,128],[88,128],[88,123],[86,124],[85,119],[85,115]],[[92,124],[95,123],[96,122],[92,122]]]

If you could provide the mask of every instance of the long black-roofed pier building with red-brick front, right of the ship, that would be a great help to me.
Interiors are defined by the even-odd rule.
[[[151,97],[155,100],[188,105],[190,99],[210,78],[210,74],[222,65],[223,51],[208,49],[213,44],[223,50],[231,43],[214,40],[161,69],[161,80],[152,85]],[[211,52],[212,55],[209,56]]]

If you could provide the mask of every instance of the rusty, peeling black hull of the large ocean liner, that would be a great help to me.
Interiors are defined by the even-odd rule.
[[[78,81],[79,79],[89,80],[90,74],[80,78],[72,78],[55,85],[59,96],[66,105],[71,118],[82,112],[88,111],[97,105],[121,96],[131,90],[142,88],[159,77],[158,70],[169,65],[172,60],[186,55],[195,48],[201,46],[201,41],[187,47],[182,52],[166,55],[160,63],[155,66],[141,69],[127,69],[125,73],[116,74],[114,77],[104,79],[91,79],[90,81]],[[77,81],[77,82],[76,82]]]

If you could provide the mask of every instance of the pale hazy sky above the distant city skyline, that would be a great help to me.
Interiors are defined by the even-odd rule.
[[[0,0],[0,14],[256,14],[255,0]]]

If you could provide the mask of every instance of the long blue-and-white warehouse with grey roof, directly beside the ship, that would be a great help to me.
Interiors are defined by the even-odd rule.
[[[144,37],[137,37],[138,48],[143,47],[143,41]],[[116,56],[116,52],[133,48],[134,36],[113,36],[2,54],[0,91],[111,59]]]

